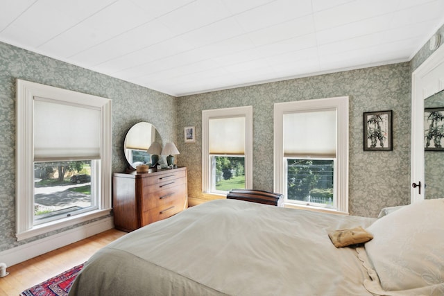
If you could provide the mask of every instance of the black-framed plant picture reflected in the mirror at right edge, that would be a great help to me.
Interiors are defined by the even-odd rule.
[[[424,110],[424,150],[444,151],[444,107]]]

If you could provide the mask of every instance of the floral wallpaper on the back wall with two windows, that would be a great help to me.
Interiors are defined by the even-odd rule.
[[[205,199],[201,181],[202,110],[253,106],[253,186],[273,191],[273,104],[350,96],[350,214],[376,217],[383,207],[408,204],[409,67],[404,62],[180,98],[178,133],[185,126],[196,126],[196,143],[178,140],[180,165],[189,171],[189,196]],[[381,110],[393,110],[393,151],[364,151],[363,112]]]

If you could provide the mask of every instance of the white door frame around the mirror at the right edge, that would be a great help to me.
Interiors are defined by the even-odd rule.
[[[444,46],[411,74],[411,203],[425,198],[424,174],[424,100],[444,89]]]

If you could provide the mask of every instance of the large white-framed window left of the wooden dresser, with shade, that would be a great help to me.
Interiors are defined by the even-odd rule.
[[[17,80],[17,240],[108,215],[111,101]]]

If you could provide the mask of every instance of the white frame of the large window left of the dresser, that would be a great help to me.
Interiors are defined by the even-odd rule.
[[[110,214],[111,210],[111,100],[49,85],[16,80],[16,237],[32,238],[64,227]],[[83,214],[33,225],[34,219],[34,148],[33,98],[50,98],[60,103],[101,110],[101,170],[97,182],[98,209]]]

